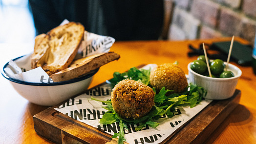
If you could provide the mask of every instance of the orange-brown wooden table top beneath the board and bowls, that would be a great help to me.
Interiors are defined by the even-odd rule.
[[[247,43],[235,38],[236,41]],[[231,41],[231,38],[195,41],[117,41],[111,51],[121,55],[118,61],[100,68],[90,87],[112,78],[115,71],[124,72],[130,67],[147,63],[178,61],[188,74],[187,65],[197,56],[188,57],[188,44],[195,47],[201,42]],[[18,56],[31,53],[31,44],[0,44],[0,64]],[[232,64],[237,65],[234,62]],[[237,89],[241,90],[240,104],[221,123],[205,144],[256,144],[256,75],[252,67],[237,65],[242,70]],[[34,131],[33,116],[47,107],[29,103],[12,85],[0,76],[0,143],[3,144],[51,144]]]

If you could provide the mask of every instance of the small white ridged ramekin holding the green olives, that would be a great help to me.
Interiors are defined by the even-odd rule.
[[[235,87],[239,77],[242,75],[242,71],[233,64],[229,63],[228,70],[232,71],[235,77],[232,78],[211,78],[200,75],[189,69],[189,82],[201,86],[207,90],[206,99],[211,100],[224,100],[232,97],[235,93]],[[226,62],[224,62],[226,64]]]

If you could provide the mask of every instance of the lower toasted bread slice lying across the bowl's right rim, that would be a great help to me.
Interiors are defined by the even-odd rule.
[[[120,55],[114,52],[92,55],[72,62],[68,68],[52,74],[50,77],[53,82],[75,79],[119,58]]]

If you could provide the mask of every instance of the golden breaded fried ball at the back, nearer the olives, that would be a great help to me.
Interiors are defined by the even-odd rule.
[[[188,86],[188,81],[184,71],[177,64],[164,63],[151,70],[150,84],[156,91],[165,86],[165,89],[180,93]]]

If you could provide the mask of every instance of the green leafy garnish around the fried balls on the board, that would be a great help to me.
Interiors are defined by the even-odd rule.
[[[112,86],[117,84],[118,82],[130,79],[135,80],[138,82],[142,82],[146,85],[150,86],[149,82],[149,75],[150,69],[138,69],[136,67],[132,67],[125,73],[115,72],[113,74],[113,78],[109,80]],[[149,113],[139,119],[124,119],[121,118],[113,109],[111,105],[111,101],[101,101],[94,99],[91,97],[92,100],[99,101],[102,103],[106,103],[107,106],[103,107],[107,109],[107,112],[103,115],[100,123],[102,124],[112,124],[115,122],[119,122],[120,131],[118,133],[114,133],[112,138],[118,137],[118,144],[123,144],[125,141],[125,133],[124,129],[127,128],[127,124],[140,124],[135,128],[135,130],[139,131],[142,130],[147,125],[150,127],[157,127],[159,123],[154,122],[158,120],[160,116],[166,115],[168,118],[174,116],[174,111],[176,106],[183,106],[189,104],[190,107],[194,107],[199,104],[207,94],[207,91],[204,90],[203,87],[199,87],[195,84],[190,83],[187,89],[182,93],[173,93],[173,90],[162,89],[156,93],[155,88],[152,87],[153,91],[155,92],[154,102],[155,105],[149,111]]]

